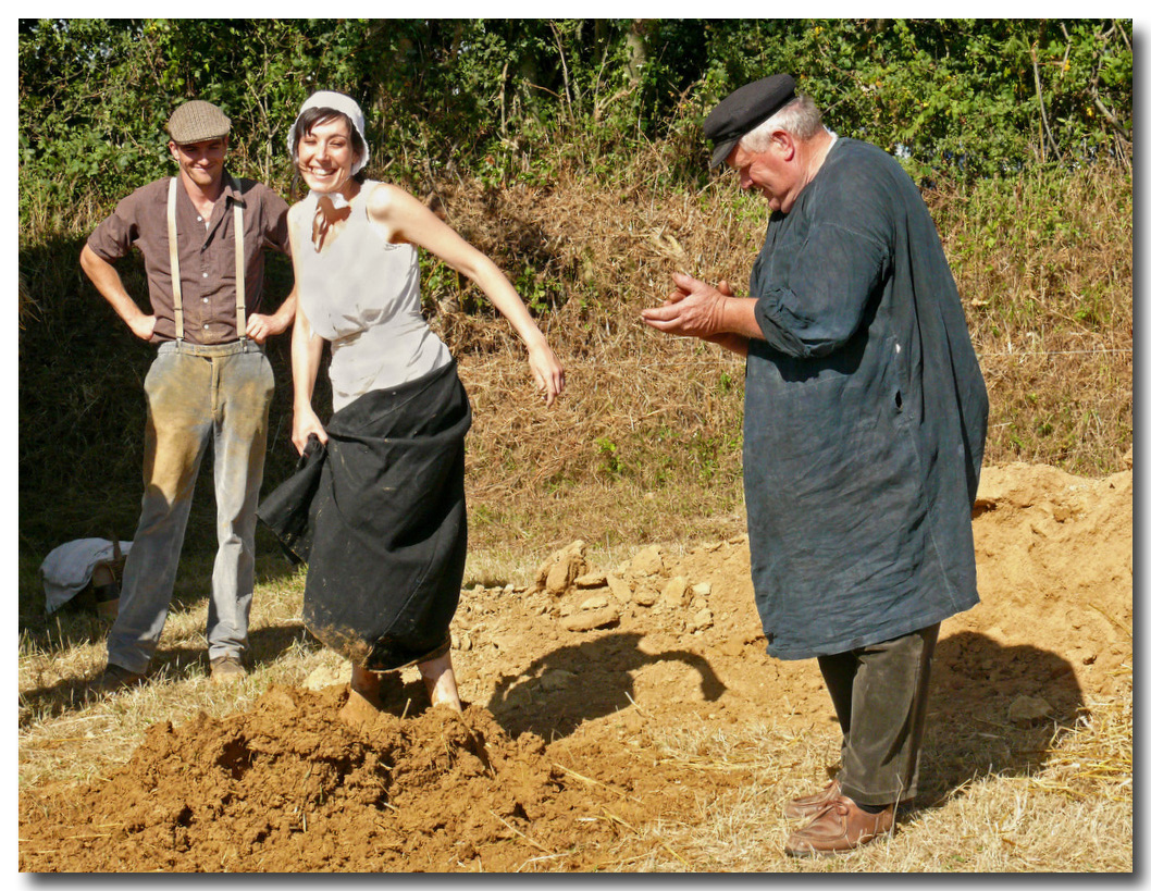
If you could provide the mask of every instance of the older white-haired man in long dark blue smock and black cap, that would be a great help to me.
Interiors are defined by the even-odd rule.
[[[747,357],[744,489],[756,607],[810,658],[843,730],[823,790],[784,813],[793,855],[846,851],[916,794],[939,623],[978,602],[971,507],[988,395],[935,224],[882,150],[837,138],[788,75],[708,115],[771,215],[748,297],[688,275],[647,325]]]

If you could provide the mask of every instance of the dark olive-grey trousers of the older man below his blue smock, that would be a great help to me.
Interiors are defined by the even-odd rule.
[[[843,793],[861,805],[914,798],[939,624],[831,656],[820,671],[843,730]]]

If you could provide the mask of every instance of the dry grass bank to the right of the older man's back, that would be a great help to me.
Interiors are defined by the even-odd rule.
[[[1106,168],[929,204],[991,393],[991,460],[1102,475],[1131,447],[1134,205]]]

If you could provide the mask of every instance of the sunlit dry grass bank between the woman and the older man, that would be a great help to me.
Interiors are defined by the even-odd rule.
[[[517,282],[525,299],[533,281],[562,284],[543,295],[556,300],[544,327],[567,370],[567,391],[550,411],[531,391],[503,321],[433,319],[460,357],[475,410],[468,498],[477,541],[527,558],[577,538],[610,549],[737,534],[742,361],[660,335],[639,313],[671,290],[672,272],[745,281],[763,207],[727,181],[669,193],[570,173],[547,190],[460,189],[445,199],[449,222],[504,268],[526,258],[536,271]],[[444,296],[475,300],[457,290],[439,295],[441,306]]]

